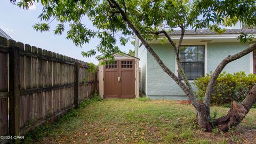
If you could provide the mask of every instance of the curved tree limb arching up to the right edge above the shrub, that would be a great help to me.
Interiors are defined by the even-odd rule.
[[[223,70],[223,68],[225,68],[225,66],[234,60],[237,60],[241,57],[243,57],[244,55],[252,52],[253,50],[256,50],[256,44],[253,44],[252,46],[248,47],[247,49],[236,53],[232,56],[228,56],[226,59],[222,60],[221,63],[219,64],[219,66],[215,69],[214,73],[211,76],[210,82],[207,86],[206,92],[205,92],[205,98],[204,98],[204,103],[206,106],[210,106],[210,102],[211,102],[211,96],[212,96],[212,92],[213,92],[213,87],[215,86],[216,82],[217,82],[217,78],[219,77],[221,71]]]

